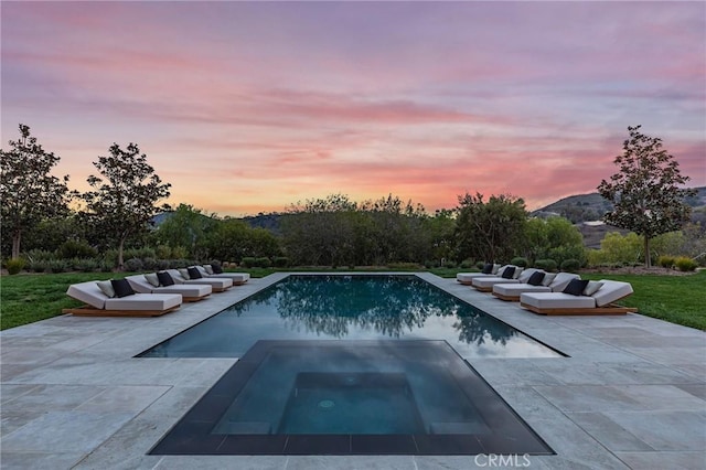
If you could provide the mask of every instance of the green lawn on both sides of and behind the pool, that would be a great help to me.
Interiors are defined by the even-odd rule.
[[[264,277],[275,268],[247,269],[253,277]],[[296,268],[297,271],[384,271],[393,268]],[[411,270],[411,269],[405,269]],[[437,268],[431,273],[452,278],[459,269]],[[33,323],[62,314],[62,309],[81,302],[66,296],[72,284],[128,276],[111,273],[22,274],[0,278],[0,330]],[[691,276],[586,274],[585,279],[614,279],[630,282],[634,293],[621,305],[637,307],[640,313],[672,323],[706,330],[706,270]]]

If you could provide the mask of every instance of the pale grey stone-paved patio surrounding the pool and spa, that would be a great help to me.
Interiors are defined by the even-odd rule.
[[[485,456],[148,456],[236,360],[133,356],[285,276],[164,317],[63,316],[1,332],[2,469],[493,468]],[[419,277],[568,355],[469,360],[557,453],[504,468],[706,468],[706,333],[640,314],[541,317]]]

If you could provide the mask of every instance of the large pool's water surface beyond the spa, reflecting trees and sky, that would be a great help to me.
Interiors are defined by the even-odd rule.
[[[145,355],[239,357],[258,340],[311,339],[445,340],[467,359],[558,356],[414,276],[290,276]]]

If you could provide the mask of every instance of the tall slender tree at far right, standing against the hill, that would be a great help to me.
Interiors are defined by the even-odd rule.
[[[620,171],[610,181],[602,180],[598,192],[613,204],[603,221],[643,237],[644,263],[649,268],[650,241],[680,229],[689,220],[691,207],[684,199],[694,191],[680,189],[689,178],[681,174],[678,162],[662,148],[662,139],[645,136],[640,128],[628,127],[630,138],[614,160]]]

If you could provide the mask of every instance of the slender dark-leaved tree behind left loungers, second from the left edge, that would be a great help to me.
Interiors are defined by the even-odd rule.
[[[130,142],[127,150],[114,143],[109,152],[110,156],[98,157],[93,163],[105,180],[88,177],[94,190],[82,194],[82,199],[92,223],[117,243],[118,269],[122,269],[125,241],[145,232],[159,211],[169,210],[168,205],[157,207],[156,204],[169,197],[171,184],[162,183],[136,143]]]

